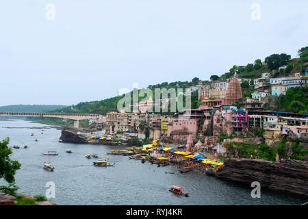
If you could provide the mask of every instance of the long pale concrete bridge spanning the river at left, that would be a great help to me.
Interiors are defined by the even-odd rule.
[[[49,118],[65,118],[74,121],[74,127],[79,128],[79,120],[94,119],[97,122],[103,120],[100,114],[53,114],[53,113],[19,113],[19,112],[0,112],[0,116],[36,116]]]

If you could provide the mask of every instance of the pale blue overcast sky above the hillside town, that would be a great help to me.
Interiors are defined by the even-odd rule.
[[[308,46],[307,8],[307,0],[1,1],[0,106],[72,105],[133,83],[207,80],[273,53],[297,57]]]

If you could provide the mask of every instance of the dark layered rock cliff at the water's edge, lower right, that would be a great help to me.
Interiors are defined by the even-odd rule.
[[[289,164],[257,159],[226,159],[217,172],[220,179],[251,185],[258,181],[261,188],[308,196],[307,162]]]

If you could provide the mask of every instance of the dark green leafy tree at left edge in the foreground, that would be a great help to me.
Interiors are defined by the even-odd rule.
[[[5,140],[0,142],[0,179],[4,178],[8,183],[14,183],[16,170],[21,168],[21,164],[16,160],[10,159],[10,154],[13,152],[8,147],[9,142],[10,138],[5,138]]]

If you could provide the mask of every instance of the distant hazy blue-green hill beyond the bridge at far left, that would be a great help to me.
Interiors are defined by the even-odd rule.
[[[49,112],[66,107],[66,105],[5,105],[0,107],[0,112]]]

